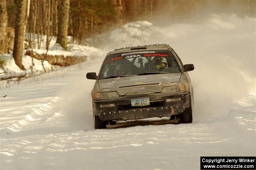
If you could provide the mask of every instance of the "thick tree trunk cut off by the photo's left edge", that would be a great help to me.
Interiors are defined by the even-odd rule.
[[[8,25],[8,14],[6,8],[6,0],[0,0],[0,54],[8,52],[7,45],[7,25]]]

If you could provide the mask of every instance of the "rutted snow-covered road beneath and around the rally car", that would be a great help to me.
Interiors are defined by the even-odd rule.
[[[1,169],[199,169],[200,156],[255,156],[255,95],[220,119],[94,130],[85,79],[94,62],[1,90]]]

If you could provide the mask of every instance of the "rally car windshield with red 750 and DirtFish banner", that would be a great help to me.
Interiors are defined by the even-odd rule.
[[[99,79],[158,73],[181,73],[175,57],[168,50],[111,54],[104,61]]]

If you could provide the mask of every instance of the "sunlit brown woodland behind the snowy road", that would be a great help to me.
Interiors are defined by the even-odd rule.
[[[65,50],[67,36],[79,44],[97,46],[105,43],[97,41],[97,35],[127,22],[172,22],[206,8],[221,12],[230,6],[255,16],[254,0],[0,0],[0,54],[13,51],[15,63],[23,69],[22,51],[40,48],[40,35],[47,36],[47,50],[53,36]]]

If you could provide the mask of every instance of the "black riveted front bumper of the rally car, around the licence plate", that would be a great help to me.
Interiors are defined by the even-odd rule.
[[[132,99],[149,98],[150,105],[138,107],[131,105]],[[166,102],[166,99],[181,98],[180,101]],[[189,107],[190,92],[124,97],[110,100],[92,100],[94,114],[99,116],[103,121],[107,120],[130,120],[144,119],[150,117],[164,117],[182,113],[185,108]],[[100,107],[102,104],[115,104],[114,107]]]

